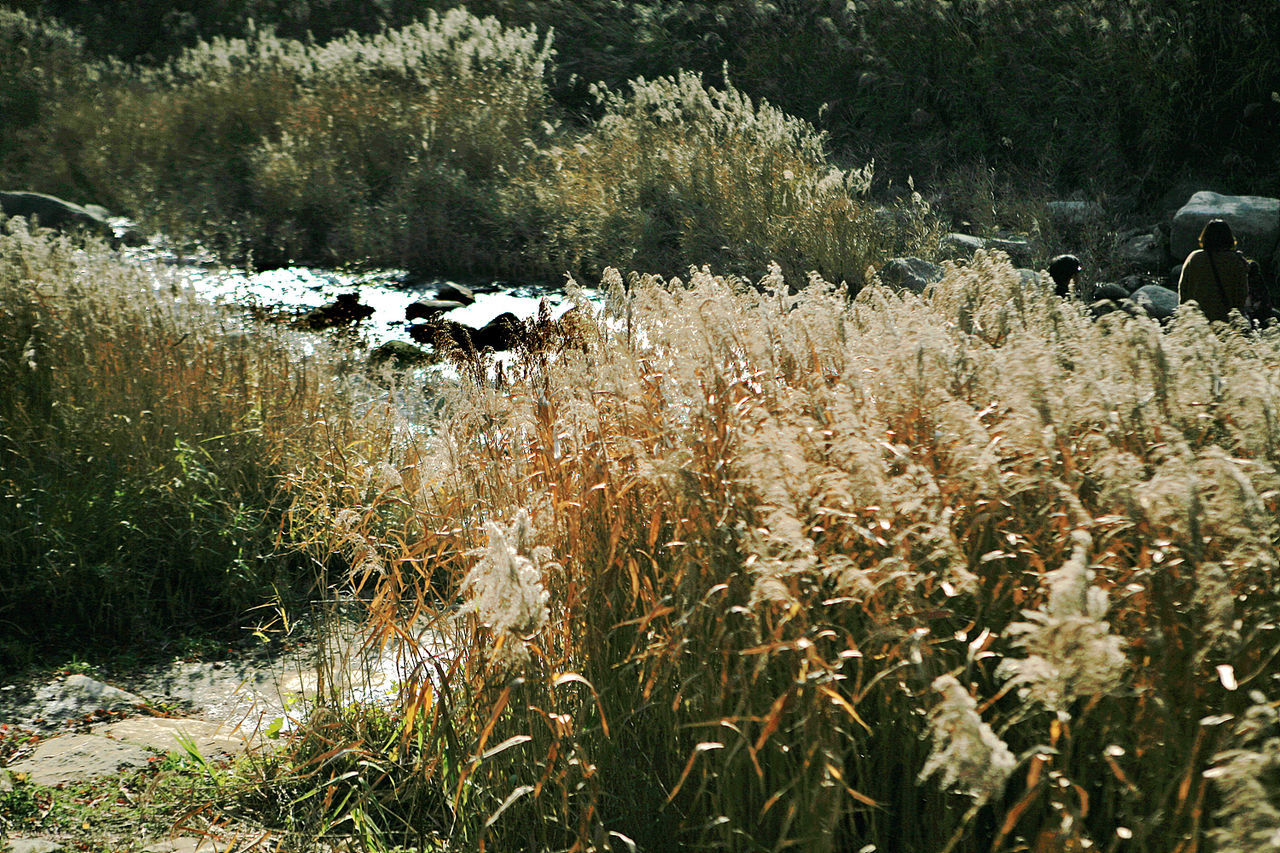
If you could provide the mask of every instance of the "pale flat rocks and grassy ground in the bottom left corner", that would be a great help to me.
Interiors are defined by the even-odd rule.
[[[195,780],[218,802],[218,780],[270,756],[317,684],[332,684],[334,661],[357,680],[344,688],[351,698],[378,701],[394,695],[406,661],[439,651],[366,639],[348,625],[225,660],[0,685],[0,849],[288,849],[247,817],[188,813],[198,803],[182,794]]]

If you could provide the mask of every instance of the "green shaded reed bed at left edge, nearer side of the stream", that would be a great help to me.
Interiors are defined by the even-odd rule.
[[[352,416],[337,361],[250,333],[164,270],[12,223],[0,670],[227,634],[266,621],[250,608],[300,602],[315,573],[280,551],[279,476]]]

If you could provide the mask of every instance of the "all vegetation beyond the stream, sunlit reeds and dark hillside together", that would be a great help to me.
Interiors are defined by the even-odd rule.
[[[1267,0],[445,5],[10,3],[0,181],[259,265],[855,287],[925,214],[1280,192]]]

